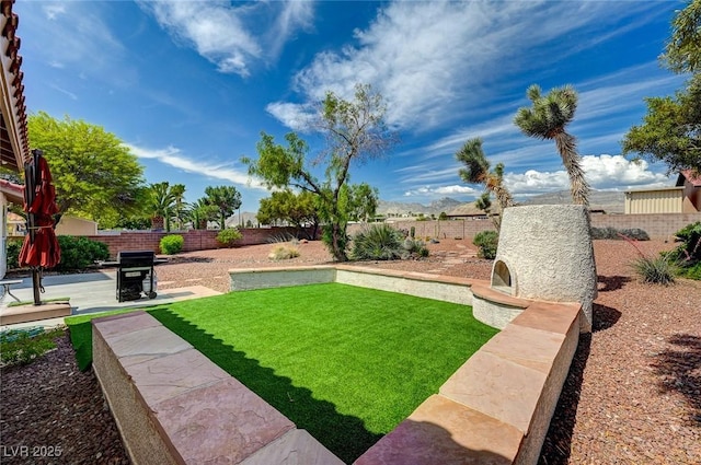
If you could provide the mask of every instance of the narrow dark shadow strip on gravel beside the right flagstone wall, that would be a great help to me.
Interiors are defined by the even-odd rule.
[[[550,421],[548,435],[540,451],[540,465],[566,464],[572,450],[572,435],[577,420],[577,407],[584,381],[584,369],[587,365],[591,349],[591,334],[579,335],[579,344],[572,359],[570,372],[562,386],[562,393]]]

